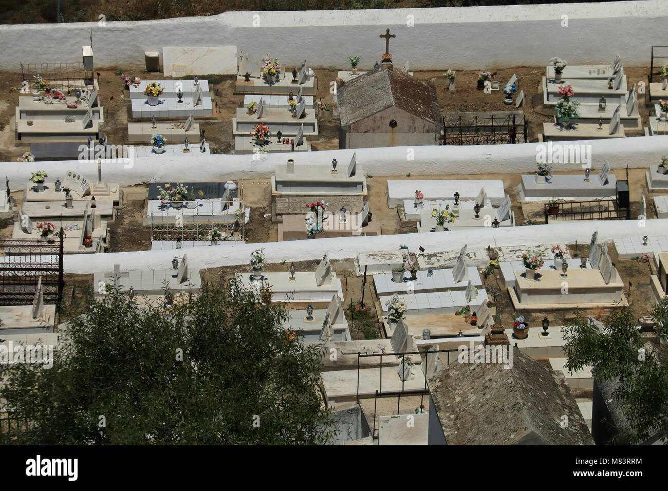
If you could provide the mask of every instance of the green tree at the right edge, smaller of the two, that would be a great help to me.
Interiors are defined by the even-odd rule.
[[[652,311],[661,337],[668,335],[668,298]],[[627,419],[624,434],[612,442],[639,444],[668,435],[668,367],[656,350],[648,349],[628,308],[615,309],[598,329],[578,315],[564,328],[568,371],[592,365],[599,380],[615,384],[613,399]]]

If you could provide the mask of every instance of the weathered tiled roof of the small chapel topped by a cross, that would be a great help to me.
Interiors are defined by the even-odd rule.
[[[347,82],[339,88],[337,100],[342,126],[392,106],[442,126],[436,89],[391,68],[371,71]]]

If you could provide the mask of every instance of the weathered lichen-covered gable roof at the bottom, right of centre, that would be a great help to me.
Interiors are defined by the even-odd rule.
[[[593,445],[562,373],[512,353],[512,368],[455,361],[428,379],[448,445]]]

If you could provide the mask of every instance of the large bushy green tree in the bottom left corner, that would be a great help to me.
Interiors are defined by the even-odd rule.
[[[112,291],[64,332],[53,367],[0,368],[16,444],[322,444],[319,348],[283,305],[233,280],[140,306]],[[23,423],[23,424],[21,424]]]

